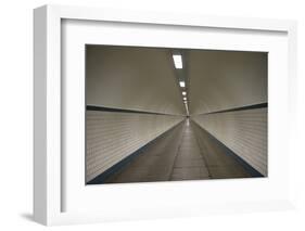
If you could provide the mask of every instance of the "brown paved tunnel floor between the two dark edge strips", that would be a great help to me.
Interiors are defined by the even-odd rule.
[[[105,183],[251,177],[228,147],[186,119],[141,150]]]

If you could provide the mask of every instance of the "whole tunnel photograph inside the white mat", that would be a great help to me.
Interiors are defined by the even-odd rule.
[[[266,52],[86,46],[86,184],[268,176]]]

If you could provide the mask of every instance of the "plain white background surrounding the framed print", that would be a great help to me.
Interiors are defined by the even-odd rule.
[[[54,230],[304,230],[305,217],[305,14],[302,0],[231,0],[231,1],[118,1],[118,0],[10,0],[1,2],[1,230],[42,230],[30,220],[33,188],[33,15],[31,9],[45,3],[85,4],[202,13],[298,20],[298,145],[295,146],[298,209],[296,211],[218,215],[199,218],[132,221],[118,223],[58,227]],[[301,77],[303,79],[301,79]],[[303,92],[302,92],[303,90]],[[301,108],[303,105],[303,108]],[[304,132],[303,132],[304,133]],[[297,143],[297,142],[296,142]]]

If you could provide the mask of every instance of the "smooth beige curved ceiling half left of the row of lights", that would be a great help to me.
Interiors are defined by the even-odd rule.
[[[169,49],[87,46],[87,105],[185,115]]]

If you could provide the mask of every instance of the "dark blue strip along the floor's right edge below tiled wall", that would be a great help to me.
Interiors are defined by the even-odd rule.
[[[232,158],[234,158],[241,166],[243,166],[243,168],[250,174],[251,177],[265,177],[264,175],[262,175],[259,171],[257,171],[255,168],[253,168],[247,162],[245,162],[242,157],[240,157],[238,154],[236,154],[233,151],[231,151],[228,146],[226,146],[223,142],[220,142],[219,140],[217,140],[217,138],[215,138],[212,133],[209,133],[207,130],[205,130],[204,128],[202,128],[198,123],[195,123],[194,120],[192,120],[200,129],[202,129],[204,132],[207,133],[207,136],[214,141],[216,142],[224,151],[227,155],[231,156]]]

